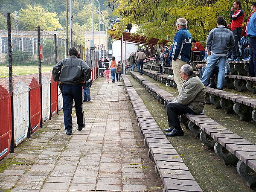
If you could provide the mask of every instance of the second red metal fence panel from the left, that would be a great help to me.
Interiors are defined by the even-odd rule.
[[[41,86],[35,77],[32,78],[29,84],[29,109],[30,109],[30,127],[34,133],[40,127],[41,120]]]

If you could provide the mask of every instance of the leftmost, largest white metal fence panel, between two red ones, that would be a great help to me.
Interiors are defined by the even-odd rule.
[[[13,126],[15,146],[26,139],[29,128],[29,88],[19,81],[13,90]]]

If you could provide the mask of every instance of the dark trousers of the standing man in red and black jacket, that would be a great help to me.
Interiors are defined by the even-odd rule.
[[[235,39],[235,47],[233,47],[233,49],[232,49],[231,58],[242,59],[242,48],[241,48],[241,44],[240,44],[242,28],[238,27],[238,28],[234,29],[232,32],[233,32],[233,36]]]

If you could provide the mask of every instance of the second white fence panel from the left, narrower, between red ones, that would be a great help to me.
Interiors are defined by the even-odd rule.
[[[50,82],[50,79],[44,76],[42,80],[42,116],[44,122],[50,118],[51,113]]]

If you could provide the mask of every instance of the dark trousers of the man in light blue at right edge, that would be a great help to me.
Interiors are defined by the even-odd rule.
[[[249,38],[250,60],[249,60],[249,76],[256,77],[256,38]]]

